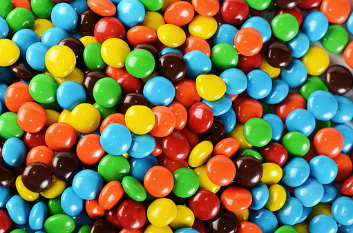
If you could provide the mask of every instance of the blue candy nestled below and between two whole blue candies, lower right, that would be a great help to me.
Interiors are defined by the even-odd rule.
[[[312,207],[323,199],[323,185],[310,177],[303,185],[294,189],[294,196],[299,199],[303,206]]]

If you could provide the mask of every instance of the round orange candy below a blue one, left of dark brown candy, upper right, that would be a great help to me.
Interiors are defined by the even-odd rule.
[[[234,45],[243,56],[254,56],[263,48],[263,37],[254,28],[242,28],[236,33]]]

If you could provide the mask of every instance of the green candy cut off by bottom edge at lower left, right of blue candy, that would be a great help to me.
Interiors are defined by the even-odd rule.
[[[66,214],[55,214],[44,222],[44,229],[48,233],[71,233],[75,227],[75,221]]]

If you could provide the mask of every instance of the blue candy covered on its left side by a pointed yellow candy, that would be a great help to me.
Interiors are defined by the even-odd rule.
[[[240,94],[247,89],[247,76],[239,69],[225,70],[220,74],[220,78],[225,82],[227,94]]]

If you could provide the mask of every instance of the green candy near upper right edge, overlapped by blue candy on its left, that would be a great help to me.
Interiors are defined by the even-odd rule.
[[[329,26],[325,36],[321,39],[323,47],[332,53],[340,53],[348,43],[348,32],[341,25],[332,24]]]

